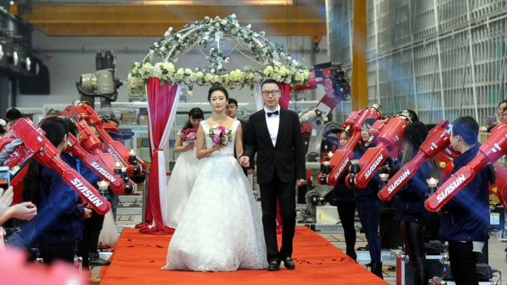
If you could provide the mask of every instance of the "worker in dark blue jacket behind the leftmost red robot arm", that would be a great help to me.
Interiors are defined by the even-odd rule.
[[[40,128],[61,154],[67,147],[67,123],[61,118],[49,117]],[[63,157],[62,160],[72,164]],[[78,205],[77,194],[56,171],[44,167],[34,158],[24,177],[23,198],[32,201],[39,209],[39,215],[32,220],[32,236],[44,263],[51,264],[56,259],[73,263],[74,246],[81,238],[83,219],[90,217],[91,210]]]

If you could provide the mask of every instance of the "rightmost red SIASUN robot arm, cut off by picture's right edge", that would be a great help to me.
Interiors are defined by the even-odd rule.
[[[477,155],[464,167],[455,172],[439,189],[425,202],[429,211],[439,210],[445,203],[456,195],[475,174],[488,163],[494,163],[507,152],[507,125],[503,124],[491,130],[491,135],[479,147]]]

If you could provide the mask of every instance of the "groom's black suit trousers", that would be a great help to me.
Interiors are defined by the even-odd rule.
[[[279,260],[292,256],[292,239],[296,228],[295,181],[284,183],[275,172],[269,183],[259,184],[261,190],[262,225],[266,241],[267,259]],[[276,241],[276,200],[280,200],[282,216],[282,247]]]

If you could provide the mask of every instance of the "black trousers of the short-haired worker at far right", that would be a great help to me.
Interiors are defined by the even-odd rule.
[[[449,241],[449,263],[456,285],[477,285],[477,252],[472,242]]]

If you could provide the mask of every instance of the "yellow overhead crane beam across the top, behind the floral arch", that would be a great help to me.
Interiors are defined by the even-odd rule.
[[[235,13],[268,35],[326,35],[324,0],[192,0],[18,2],[11,12],[50,36],[162,36],[204,16]],[[318,39],[318,40],[317,40]]]

